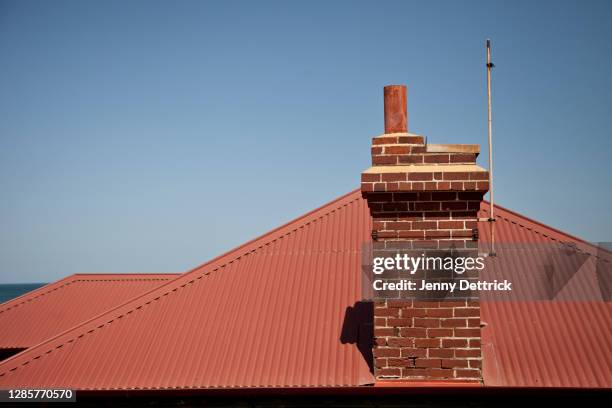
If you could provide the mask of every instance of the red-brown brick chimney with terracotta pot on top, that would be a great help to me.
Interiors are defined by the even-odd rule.
[[[477,248],[488,172],[478,145],[427,144],[408,133],[406,86],[384,89],[385,134],[372,139],[372,167],[361,192],[372,237],[383,245]],[[377,380],[480,381],[480,306],[474,300],[377,300]]]

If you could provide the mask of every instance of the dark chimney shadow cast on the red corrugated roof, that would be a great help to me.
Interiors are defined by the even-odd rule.
[[[340,342],[356,345],[370,372],[374,373],[374,303],[359,301],[346,308]]]

